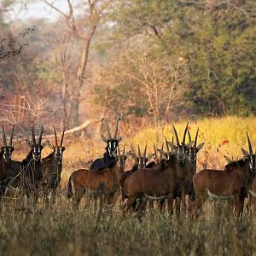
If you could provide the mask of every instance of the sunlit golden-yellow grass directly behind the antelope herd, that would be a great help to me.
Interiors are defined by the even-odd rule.
[[[183,131],[187,121],[176,123],[177,133],[182,139]],[[250,135],[253,143],[253,148],[256,148],[256,117],[241,118],[236,116],[224,117],[224,118],[211,118],[211,119],[199,119],[189,120],[189,131],[192,139],[195,138],[195,132],[197,127],[200,128],[198,144],[205,143],[204,148],[198,154],[198,171],[201,170],[201,166],[207,163],[208,168],[224,168],[225,160],[224,155],[228,155],[231,159],[240,158],[241,148],[247,149],[246,132]],[[126,150],[130,150],[131,147],[137,152],[137,145],[141,148],[148,145],[148,153],[154,152],[153,143],[157,148],[161,147],[161,144],[165,142],[165,137],[168,141],[172,140],[173,131],[172,125],[166,124],[163,127],[157,129],[148,127],[138,131],[133,137],[124,137],[124,141],[121,143],[121,147],[125,145]],[[187,137],[188,141],[188,137]],[[94,160],[97,157],[102,157],[106,144],[102,142],[101,138],[95,138],[89,140],[87,138],[72,138],[72,143],[64,153],[63,158],[63,172],[62,172],[62,184],[66,186],[67,179],[71,172],[81,167],[88,167],[86,162]],[[22,159],[26,156],[26,145],[22,145],[20,150],[15,152],[15,159]],[[45,148],[43,151],[43,157],[51,152],[50,148]],[[128,162],[127,168],[132,165],[132,160]]]

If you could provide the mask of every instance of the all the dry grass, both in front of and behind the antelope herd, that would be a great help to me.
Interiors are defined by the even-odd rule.
[[[180,136],[185,125],[176,124]],[[202,119],[190,121],[189,126],[192,137],[199,126],[199,143],[206,143],[199,154],[198,170],[204,161],[209,166],[223,167],[223,154],[240,157],[241,147],[247,148],[246,131],[256,147],[256,118]],[[165,136],[172,138],[170,124],[124,137],[123,143],[126,148],[147,143],[148,151],[153,152],[153,143],[159,148]],[[156,209],[148,210],[140,220],[133,214],[123,218],[119,203],[99,212],[93,203],[83,200],[74,210],[67,201],[67,178],[73,170],[101,156],[104,147],[100,139],[73,139],[64,153],[62,192],[54,206],[45,207],[39,200],[37,207],[31,207],[18,195],[1,202],[1,255],[256,255],[255,212],[248,215],[246,211],[238,221],[223,211],[227,208],[224,203],[214,207],[207,202],[200,218],[193,221],[185,216],[177,220]],[[44,155],[49,153],[50,149],[45,148]],[[25,154],[26,146],[22,146],[15,158]]]

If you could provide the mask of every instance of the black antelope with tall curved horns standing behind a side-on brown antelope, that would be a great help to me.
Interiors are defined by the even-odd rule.
[[[117,154],[117,148],[119,146],[119,142],[122,140],[121,137],[117,137],[120,120],[121,120],[121,117],[119,115],[116,120],[115,131],[112,137],[110,128],[108,125],[108,119],[105,119],[105,118],[102,119],[102,122],[104,122],[108,131],[108,137],[102,136],[102,140],[108,145],[105,148],[106,152],[104,153],[103,158],[98,158],[94,160],[94,162],[90,166],[90,170],[103,170],[104,168],[108,168],[109,165],[112,165],[115,163],[116,158],[114,154]]]

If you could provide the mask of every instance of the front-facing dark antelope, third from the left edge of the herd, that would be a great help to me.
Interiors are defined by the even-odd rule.
[[[49,148],[53,150],[51,154],[42,160],[42,189],[44,195],[47,197],[47,203],[49,203],[49,198],[51,194],[55,194],[55,189],[57,189],[61,182],[61,171],[62,171],[62,156],[67,148],[67,143],[63,146],[63,139],[65,134],[66,125],[64,125],[61,134],[61,143],[58,144],[58,137],[54,127],[55,133],[55,145],[47,141]],[[54,195],[53,195],[54,196]]]

